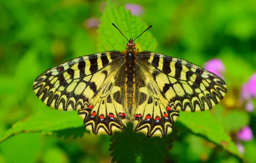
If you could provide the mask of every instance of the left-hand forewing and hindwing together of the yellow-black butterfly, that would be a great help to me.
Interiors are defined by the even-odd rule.
[[[122,90],[114,85],[116,74],[122,71],[122,55],[108,51],[69,60],[39,75],[34,81],[34,92],[47,106],[78,110],[85,127],[93,133],[122,130],[125,118],[116,112],[125,111],[121,102],[115,101],[120,101],[115,93]],[[107,103],[110,100],[112,103]]]

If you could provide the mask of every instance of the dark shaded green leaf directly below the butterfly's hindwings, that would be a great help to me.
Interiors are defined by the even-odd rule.
[[[141,133],[135,133],[132,129],[132,124],[129,124],[125,131],[116,133],[110,139],[112,142],[110,151],[113,151],[111,154],[113,156],[112,162],[169,162],[169,150],[175,139],[177,139],[177,130],[175,128],[168,136],[149,138]]]

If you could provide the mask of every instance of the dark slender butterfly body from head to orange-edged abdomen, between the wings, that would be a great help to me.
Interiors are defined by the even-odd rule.
[[[134,107],[134,97],[135,97],[135,64],[136,64],[136,56],[137,50],[135,48],[135,44],[130,41],[127,43],[127,47],[124,51],[125,57],[125,105],[128,112]]]

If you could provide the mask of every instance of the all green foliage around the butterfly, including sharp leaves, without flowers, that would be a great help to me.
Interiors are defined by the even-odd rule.
[[[125,10],[126,3],[0,1],[0,163],[256,162],[256,139],[236,138],[246,125],[256,132],[256,111],[239,104],[241,85],[256,71],[255,0],[129,1],[143,7],[139,17]],[[88,26],[90,18],[98,18],[99,27]],[[152,24],[135,42],[140,50],[199,66],[221,59],[225,100],[209,112],[180,113],[174,132],[162,139],[136,134],[131,125],[111,138],[94,136],[76,112],[56,111],[38,100],[32,85],[46,69],[82,55],[124,50],[127,41],[111,23],[128,38]],[[244,145],[244,154],[236,143]]]

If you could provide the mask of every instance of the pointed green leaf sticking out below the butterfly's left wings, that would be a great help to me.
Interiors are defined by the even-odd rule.
[[[45,109],[42,112],[13,124],[12,128],[7,130],[3,138],[0,139],[0,142],[21,132],[52,133],[58,130],[82,126],[82,120],[77,115],[77,112],[62,112],[54,109]],[[81,130],[85,131],[85,128]]]

